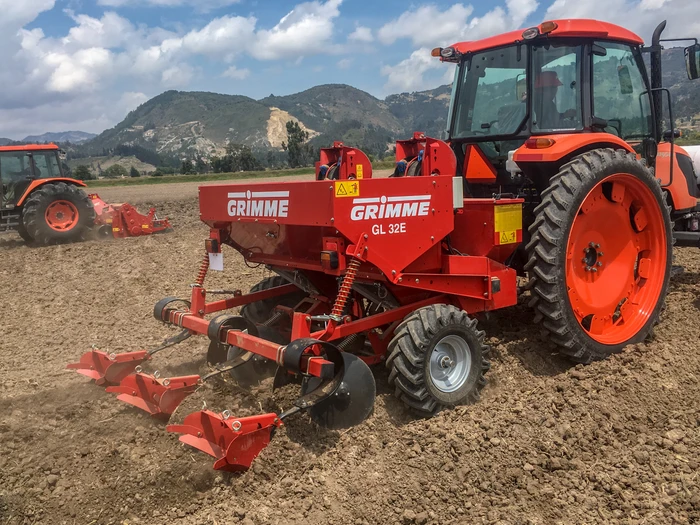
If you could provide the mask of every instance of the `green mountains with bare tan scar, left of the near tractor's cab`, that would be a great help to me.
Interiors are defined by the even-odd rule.
[[[421,104],[421,131],[443,129],[449,88],[413,94]],[[286,123],[299,122],[315,146],[342,140],[383,153],[395,137],[413,131],[410,97],[380,100],[342,84],[316,86],[301,93],[254,100],[240,95],[167,91],[139,106],[114,128],[77,148],[81,156],[103,155],[125,145],[163,157],[221,155],[226,144],[280,150]],[[390,97],[391,98],[391,97]],[[434,115],[433,115],[434,113]],[[431,122],[434,119],[434,123]]]

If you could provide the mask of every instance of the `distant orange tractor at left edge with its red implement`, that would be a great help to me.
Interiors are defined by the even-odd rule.
[[[132,237],[164,231],[155,209],[141,215],[129,204],[106,204],[84,182],[64,176],[55,144],[0,147],[0,232],[27,242],[53,244],[102,235]]]

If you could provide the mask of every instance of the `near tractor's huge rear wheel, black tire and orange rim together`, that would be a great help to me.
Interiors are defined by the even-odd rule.
[[[600,149],[562,166],[541,196],[526,248],[535,321],[579,363],[643,341],[673,255],[659,181],[633,153]]]

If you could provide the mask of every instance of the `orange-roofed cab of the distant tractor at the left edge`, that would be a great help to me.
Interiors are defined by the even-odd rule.
[[[0,208],[14,208],[35,180],[62,178],[62,155],[55,144],[0,147]]]

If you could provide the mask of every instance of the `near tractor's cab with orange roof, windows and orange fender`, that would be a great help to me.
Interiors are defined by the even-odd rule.
[[[654,60],[662,30],[644,48],[619,26],[560,20],[434,49],[457,66],[448,133],[465,188],[517,194],[531,182],[542,191],[562,164],[600,147],[634,151],[653,166],[660,143],[674,138],[672,119],[662,129],[666,94]],[[647,51],[657,81],[647,74]],[[698,77],[698,55],[697,44],[686,49],[689,78]]]

